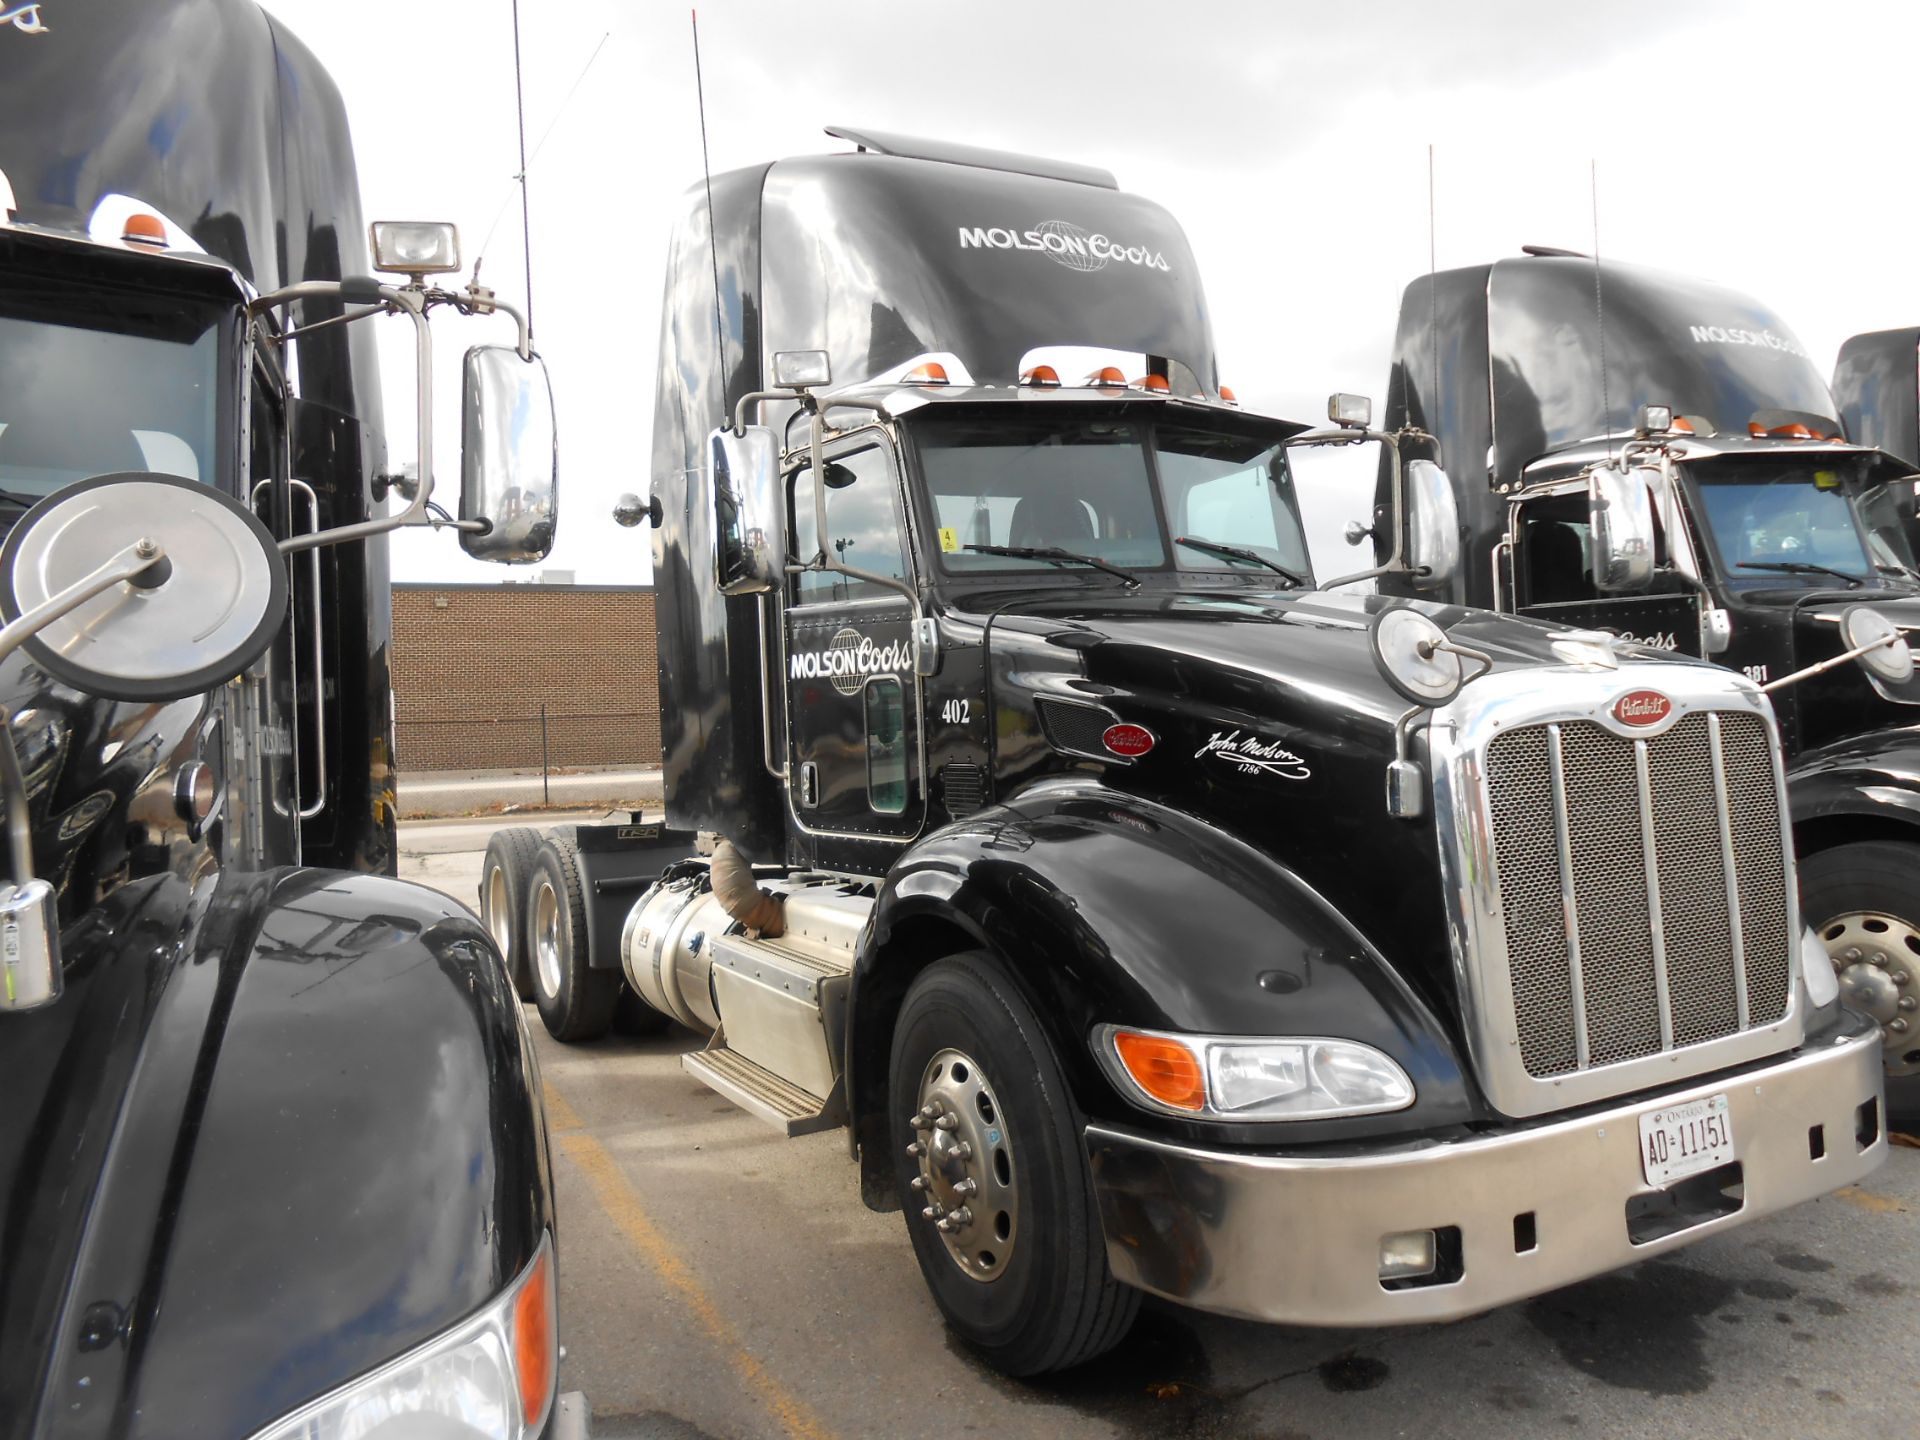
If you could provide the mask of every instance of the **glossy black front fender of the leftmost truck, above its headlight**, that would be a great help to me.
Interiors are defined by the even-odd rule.
[[[526,1023],[453,900],[163,876],[65,956],[58,1004],[0,1018],[0,1432],[252,1434],[472,1313],[553,1227]]]

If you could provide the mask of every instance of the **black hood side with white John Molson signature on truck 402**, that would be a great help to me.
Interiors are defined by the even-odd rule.
[[[1096,766],[1106,783],[1200,816],[1294,870],[1384,954],[1405,958],[1430,1002],[1453,1008],[1432,818],[1386,812],[1394,722],[1411,703],[1375,666],[1369,624],[1411,603],[1496,670],[1540,668],[1542,684],[1565,664],[1549,643],[1559,626],[1319,591],[1089,588],[1000,599],[991,630],[1000,799],[1018,806],[1023,783]],[[1154,747],[1131,764],[1064,756],[1048,699],[1098,705],[1152,732]],[[1419,732],[1413,755],[1425,755]]]

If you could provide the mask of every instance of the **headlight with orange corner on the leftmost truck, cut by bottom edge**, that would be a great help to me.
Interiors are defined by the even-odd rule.
[[[553,1238],[495,1300],[253,1440],[526,1440],[553,1409]]]

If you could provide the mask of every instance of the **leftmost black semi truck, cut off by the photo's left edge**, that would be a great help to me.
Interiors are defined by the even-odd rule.
[[[520,1006],[394,879],[386,532],[428,311],[495,309],[455,244],[369,278],[340,96],[246,0],[0,17],[4,1436],[584,1434]],[[516,338],[445,516],[499,559],[553,528]]]

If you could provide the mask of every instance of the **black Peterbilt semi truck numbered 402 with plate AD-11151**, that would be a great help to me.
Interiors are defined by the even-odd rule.
[[[1235,405],[1173,217],[835,134],[682,211],[620,515],[657,526],[672,829],[540,847],[557,1035],[624,985],[712,1033],[720,1094],[845,1125],[1018,1375],[1140,1292],[1444,1319],[1880,1164],[1751,680],[1315,588],[1292,451],[1405,438]]]

